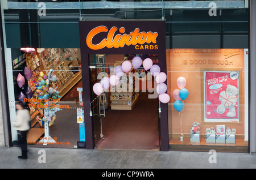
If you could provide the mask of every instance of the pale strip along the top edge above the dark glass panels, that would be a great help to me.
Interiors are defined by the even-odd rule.
[[[47,8],[209,8],[214,3],[217,8],[243,8],[246,1],[82,1],[82,0],[31,0],[6,2],[9,8],[38,8],[38,4],[45,3]]]

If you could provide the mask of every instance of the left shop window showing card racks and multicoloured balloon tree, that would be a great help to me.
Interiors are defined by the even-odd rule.
[[[17,75],[14,72],[17,84],[14,89],[15,93],[19,93],[15,100],[25,102],[31,114],[31,130],[27,134],[29,145],[74,147],[79,141],[79,133],[74,135],[73,140],[60,133],[61,123],[72,128],[75,123],[71,125],[67,120],[75,119],[77,123],[76,115],[65,117],[65,114],[82,109],[77,104],[79,93],[75,95],[72,90],[76,89],[77,83],[82,87],[79,52],[79,49],[72,48],[34,49],[13,61],[13,66],[22,70]],[[80,123],[83,122],[84,119]],[[53,130],[50,131],[50,128]]]

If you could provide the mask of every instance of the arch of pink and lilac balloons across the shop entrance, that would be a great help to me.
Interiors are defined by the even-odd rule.
[[[110,84],[114,86],[117,85],[120,82],[121,76],[129,72],[132,67],[137,70],[141,65],[143,65],[144,70],[150,70],[151,75],[155,76],[156,82],[158,83],[156,91],[159,94],[159,100],[162,103],[168,103],[170,101],[170,96],[165,93],[167,91],[167,86],[164,84],[166,81],[166,74],[164,72],[160,72],[160,67],[158,65],[153,65],[150,58],[144,59],[143,62],[141,57],[134,57],[131,62],[123,61],[122,65],[115,67],[114,75],[111,75],[109,78],[104,77],[101,79],[100,83],[95,83],[93,85],[93,92],[100,96],[104,89],[108,89],[110,87]]]

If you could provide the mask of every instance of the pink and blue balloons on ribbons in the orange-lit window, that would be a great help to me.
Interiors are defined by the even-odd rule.
[[[182,134],[182,114],[180,115],[181,110],[184,109],[184,100],[188,97],[188,89],[184,88],[185,85],[187,84],[187,80],[184,77],[179,77],[177,79],[177,86],[180,89],[175,89],[174,92],[172,93],[172,97],[174,97],[175,102],[174,102],[174,109],[179,112],[179,118],[180,118],[180,132],[181,132],[181,137],[180,140],[183,140],[183,134]],[[181,102],[183,100],[183,102]]]

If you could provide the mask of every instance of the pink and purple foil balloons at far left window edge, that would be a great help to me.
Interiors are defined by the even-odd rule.
[[[22,89],[24,89],[23,85],[25,84],[25,78],[27,80],[30,80],[30,78],[32,76],[31,71],[27,67],[24,68],[23,73],[24,73],[25,77],[22,74],[19,73],[17,78],[16,78],[18,86]],[[27,87],[26,95],[24,95],[23,92],[20,92],[18,99],[19,99],[19,101],[24,102],[24,98],[31,98],[31,97],[32,97],[32,90],[30,89],[30,87]]]

